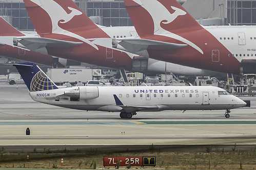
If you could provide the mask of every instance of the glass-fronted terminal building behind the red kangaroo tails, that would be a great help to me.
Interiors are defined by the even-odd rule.
[[[202,25],[256,25],[256,0],[178,0]],[[95,23],[132,26],[122,0],[75,0]],[[22,0],[0,1],[0,15],[21,31],[33,31]]]

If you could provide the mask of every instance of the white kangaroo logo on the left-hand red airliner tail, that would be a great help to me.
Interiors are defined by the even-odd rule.
[[[55,1],[53,0],[30,0],[31,2],[35,3],[39,7],[41,7],[43,10],[45,10],[52,22],[52,33],[54,34],[62,34],[62,35],[67,35],[76,39],[79,39],[85,43],[88,43],[89,45],[93,46],[96,48],[96,50],[99,50],[99,48],[92,43],[91,41],[87,40],[84,37],[81,37],[80,35],[74,34],[70,31],[64,30],[61,27],[58,26],[58,22],[60,23],[67,23],[71,19],[74,18],[74,16],[77,15],[82,15],[83,13],[77,9],[68,7],[68,9],[71,11],[70,13],[67,13],[60,5],[58,5]]]

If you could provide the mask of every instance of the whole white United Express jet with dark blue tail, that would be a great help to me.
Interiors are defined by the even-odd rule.
[[[121,112],[131,118],[138,111],[226,110],[243,107],[244,101],[213,86],[76,86],[60,88],[34,63],[14,64],[34,101],[81,109]]]

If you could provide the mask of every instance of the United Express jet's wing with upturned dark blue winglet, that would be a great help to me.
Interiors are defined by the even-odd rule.
[[[125,112],[135,111],[154,111],[159,109],[157,105],[124,105],[120,99],[114,94],[115,104],[120,106]]]

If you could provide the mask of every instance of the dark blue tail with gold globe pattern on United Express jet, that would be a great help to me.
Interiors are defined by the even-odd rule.
[[[36,64],[31,62],[24,62],[13,64],[21,74],[29,91],[42,91],[57,89],[58,87],[53,83],[48,76]]]

